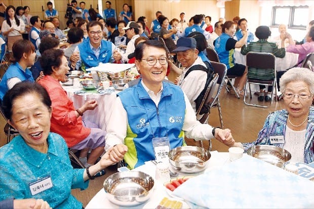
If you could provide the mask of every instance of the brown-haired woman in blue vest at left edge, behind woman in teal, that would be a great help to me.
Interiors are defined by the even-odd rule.
[[[34,78],[27,67],[32,66],[35,61],[35,47],[29,40],[17,40],[12,47],[12,64],[0,81],[0,100],[6,92],[12,89],[16,83],[23,80],[34,82]]]

